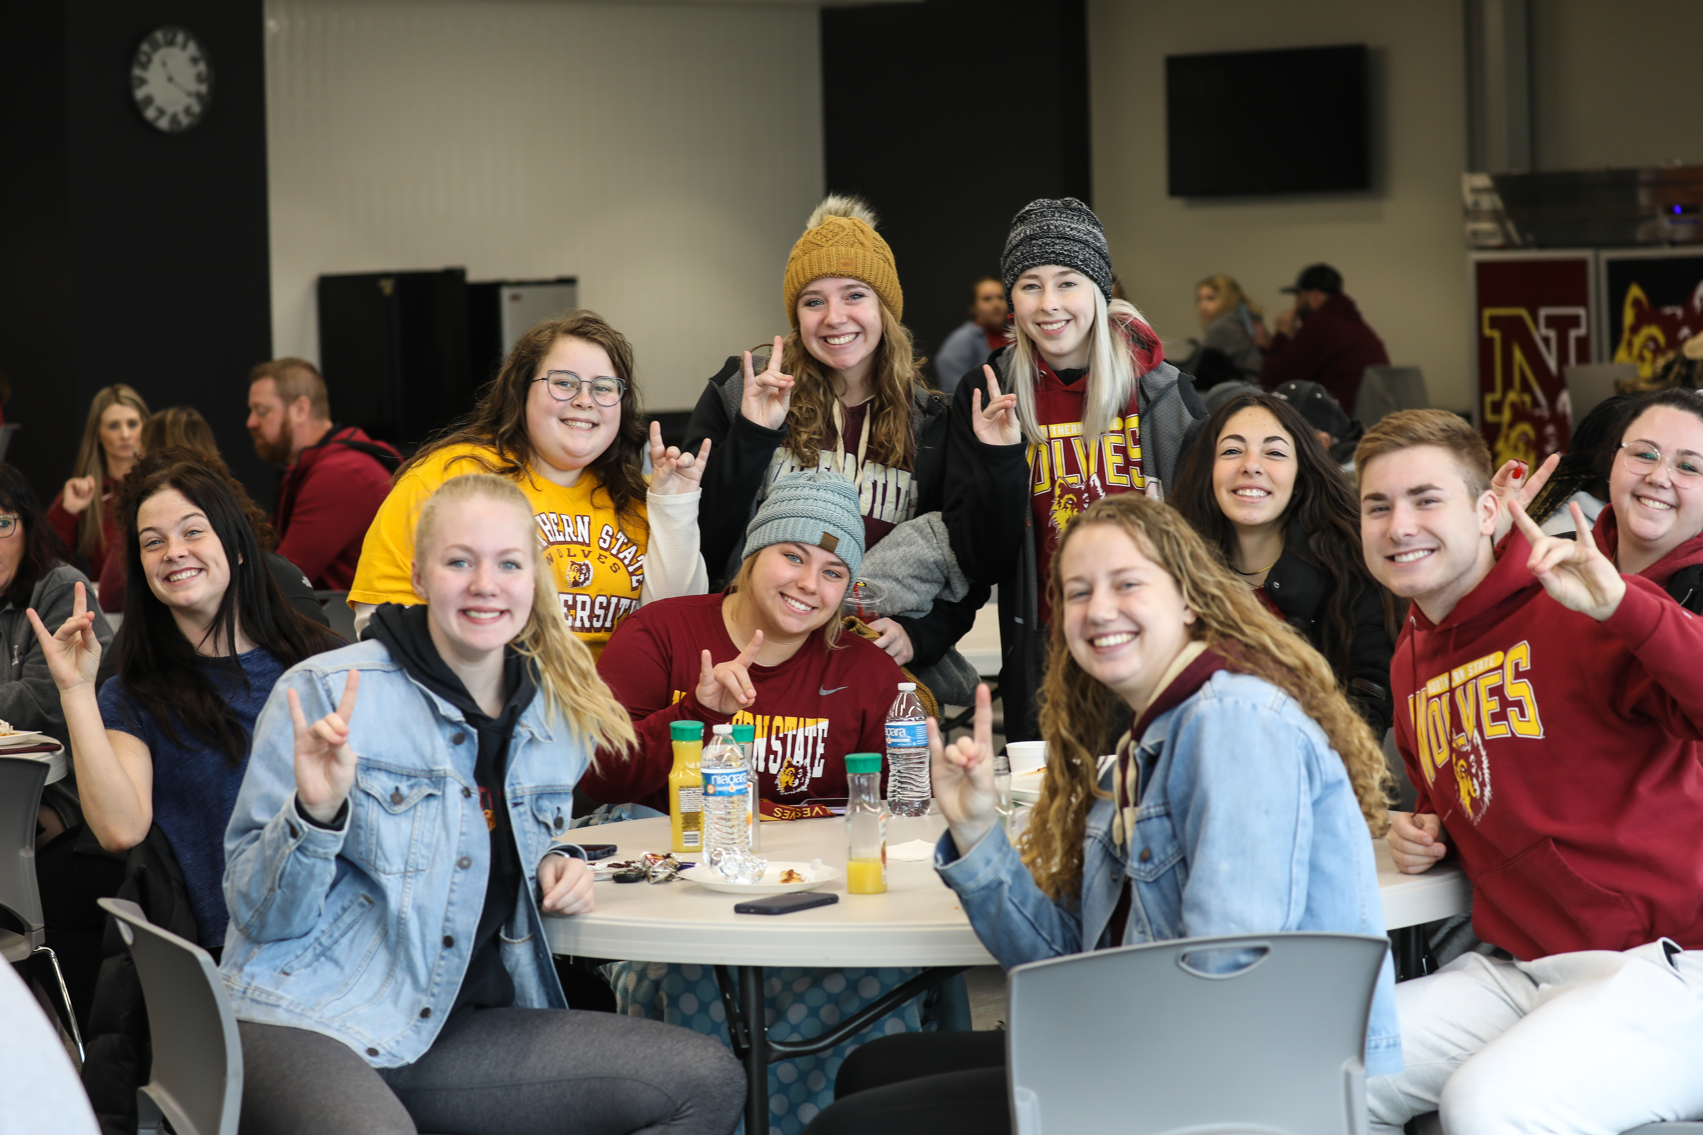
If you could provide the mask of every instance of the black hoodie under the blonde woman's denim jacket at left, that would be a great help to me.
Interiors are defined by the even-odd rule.
[[[514,723],[531,704],[538,686],[528,660],[513,645],[502,653],[504,704],[501,716],[489,716],[467,693],[467,686],[438,653],[431,640],[427,607],[383,604],[373,611],[368,636],[385,643],[390,657],[402,664],[407,676],[467,715],[467,723],[479,733],[479,757],[473,762],[473,783],[479,784],[479,803],[485,810],[490,829],[490,878],[485,883],[485,905],[479,914],[479,931],[473,934],[473,953],[462,978],[462,992],[455,999],[450,1021],[468,1009],[501,1009],[514,1004],[514,982],[502,965],[497,933],[514,915],[514,902],[526,878],[521,871],[519,849],[509,825],[507,805],[502,798],[502,778],[509,764],[509,739]]]

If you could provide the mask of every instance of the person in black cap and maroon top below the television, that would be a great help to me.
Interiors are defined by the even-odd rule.
[[[1383,340],[1342,294],[1342,272],[1328,264],[1304,269],[1294,288],[1284,291],[1294,293],[1294,308],[1281,311],[1276,334],[1260,342],[1265,349],[1260,383],[1274,390],[1296,379],[1313,381],[1352,414],[1366,368],[1390,366]]]

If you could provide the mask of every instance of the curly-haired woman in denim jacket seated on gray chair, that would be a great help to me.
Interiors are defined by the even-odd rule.
[[[1020,847],[998,824],[988,689],[972,737],[932,737],[935,868],[1000,965],[1213,934],[1383,936],[1368,836],[1390,825],[1388,771],[1323,659],[1260,614],[1187,521],[1132,493],[1066,529],[1051,587],[1049,762]],[[1114,708],[1131,728],[1102,774]],[[1400,1069],[1385,956],[1366,1072]],[[812,1135],[1010,1130],[998,1033],[875,1041],[838,1089]]]

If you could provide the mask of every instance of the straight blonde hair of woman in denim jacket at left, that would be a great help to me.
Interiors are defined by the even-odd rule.
[[[514,482],[492,473],[465,473],[439,485],[421,507],[421,519],[414,528],[414,562],[426,562],[443,510],[463,500],[513,505],[528,521],[526,538],[533,550],[533,609],[513,645],[533,662],[538,693],[545,699],[545,718],[560,718],[569,730],[582,737],[593,747],[593,764],[598,749],[625,752],[637,740],[632,718],[598,677],[591,650],[562,619],[555,589],[550,585],[550,565],[545,563],[531,533],[531,502]]]

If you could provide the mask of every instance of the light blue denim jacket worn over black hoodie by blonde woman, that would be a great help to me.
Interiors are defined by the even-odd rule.
[[[361,674],[349,747],[359,756],[339,829],[295,808],[286,691],[315,721]],[[514,1004],[567,1007],[535,898],[538,861],[574,817],[589,747],[543,698],[521,713],[504,793],[526,885],[501,931]],[[479,737],[460,710],[410,679],[378,642],[315,655],[278,681],[254,728],[225,830],[230,931],[220,972],[244,1021],[335,1036],[376,1067],[417,1060],[467,973],[490,876],[473,781]]]

